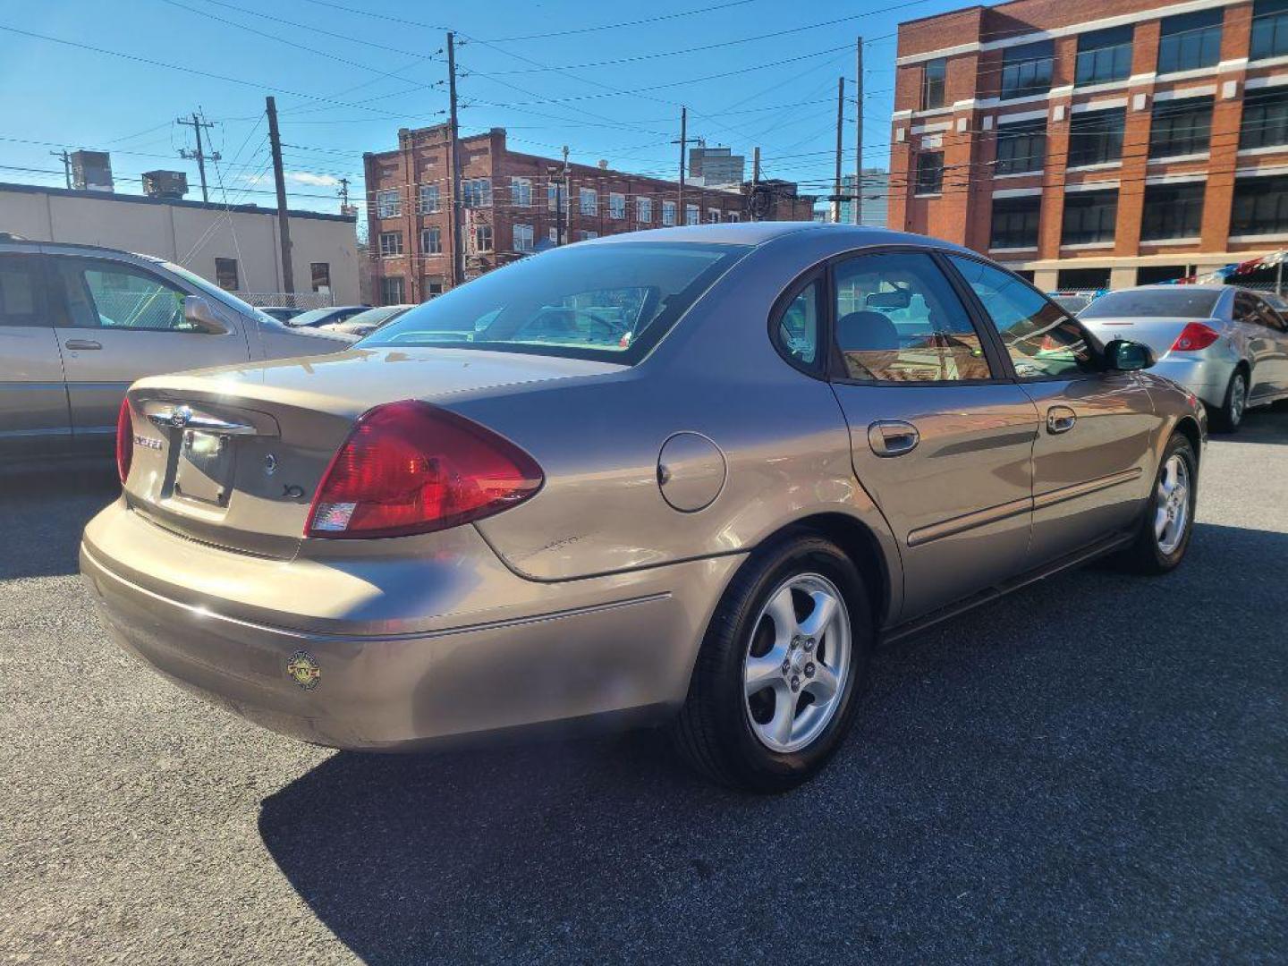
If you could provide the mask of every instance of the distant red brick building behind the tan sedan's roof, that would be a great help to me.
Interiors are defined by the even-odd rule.
[[[398,149],[363,156],[372,294],[380,304],[424,301],[452,287],[452,184],[447,125],[402,129]],[[750,189],[685,185],[605,166],[510,151],[505,129],[460,138],[464,279],[540,247],[647,228],[750,219]],[[770,220],[809,220],[796,185],[764,189]],[[563,206],[560,213],[559,205]]]

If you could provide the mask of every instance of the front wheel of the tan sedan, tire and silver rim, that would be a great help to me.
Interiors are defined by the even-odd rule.
[[[1198,469],[1190,440],[1173,433],[1163,450],[1136,540],[1119,558],[1124,569],[1159,574],[1180,565],[1194,533]]]

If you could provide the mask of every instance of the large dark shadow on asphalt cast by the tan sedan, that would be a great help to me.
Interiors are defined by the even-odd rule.
[[[1285,726],[1279,618],[1247,600],[1284,559],[1285,533],[1199,524],[1167,577],[1084,568],[885,647],[854,734],[788,795],[708,786],[659,732],[337,752],[263,801],[260,835],[381,966],[774,962],[802,927],[848,961],[1256,948],[1283,770],[1248,761]]]

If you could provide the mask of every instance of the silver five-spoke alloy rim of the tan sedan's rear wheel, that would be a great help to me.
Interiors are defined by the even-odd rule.
[[[752,625],[743,661],[747,720],[777,752],[815,741],[841,706],[850,672],[850,614],[827,577],[783,581]]]

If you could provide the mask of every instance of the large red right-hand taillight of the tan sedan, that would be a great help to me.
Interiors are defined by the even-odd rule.
[[[509,439],[406,399],[366,412],[331,460],[309,509],[308,537],[402,537],[491,516],[545,477]]]

